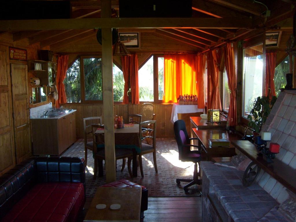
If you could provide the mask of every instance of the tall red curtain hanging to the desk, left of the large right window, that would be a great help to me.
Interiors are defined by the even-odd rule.
[[[228,125],[237,125],[237,75],[235,72],[234,50],[232,43],[227,43],[224,47],[225,67],[230,89],[230,102],[228,110]]]

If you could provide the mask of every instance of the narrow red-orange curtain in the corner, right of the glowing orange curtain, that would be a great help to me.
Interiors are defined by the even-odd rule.
[[[205,94],[204,94],[204,72],[206,64],[206,55],[199,54],[196,56],[196,78],[197,78],[197,106],[199,109],[205,108]]]

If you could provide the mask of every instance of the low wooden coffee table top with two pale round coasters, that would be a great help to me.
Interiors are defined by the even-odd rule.
[[[99,187],[84,222],[89,221],[140,221],[141,187]],[[96,209],[106,204],[105,209]],[[111,204],[120,204],[119,210],[111,210]]]

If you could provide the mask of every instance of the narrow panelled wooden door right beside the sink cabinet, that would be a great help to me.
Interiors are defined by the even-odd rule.
[[[11,64],[12,104],[15,129],[17,163],[32,155],[30,132],[28,68],[23,64]]]

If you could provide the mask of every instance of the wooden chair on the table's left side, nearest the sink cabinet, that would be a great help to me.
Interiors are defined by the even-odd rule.
[[[91,131],[91,124],[97,123],[102,124],[102,116],[93,116],[93,117],[87,117],[83,118],[83,129],[84,129],[84,152],[85,152],[85,166],[87,164],[87,150],[90,149],[93,150],[93,140],[87,141],[87,138],[91,138],[92,131]]]

